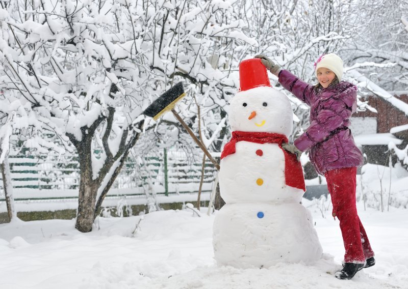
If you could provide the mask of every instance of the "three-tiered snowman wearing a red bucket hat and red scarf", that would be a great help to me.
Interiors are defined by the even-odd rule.
[[[219,184],[224,207],[213,227],[219,265],[270,267],[313,263],[322,248],[296,156],[282,149],[292,132],[289,99],[270,85],[260,59],[241,62],[240,91],[230,102],[233,131],[221,154]]]

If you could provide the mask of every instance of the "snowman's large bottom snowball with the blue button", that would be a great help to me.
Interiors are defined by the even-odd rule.
[[[312,216],[300,204],[225,205],[214,220],[213,246],[218,265],[237,268],[309,264],[323,251]]]

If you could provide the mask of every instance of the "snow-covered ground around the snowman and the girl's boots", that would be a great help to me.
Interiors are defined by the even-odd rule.
[[[303,204],[324,250],[314,265],[217,267],[214,215],[207,216],[206,209],[201,217],[181,210],[98,218],[87,234],[74,229],[74,220],[14,221],[0,225],[0,288],[408,288],[407,209],[364,211],[358,204],[377,264],[352,280],[338,280],[334,273],[343,257],[338,221],[330,208],[322,213],[317,201]]]

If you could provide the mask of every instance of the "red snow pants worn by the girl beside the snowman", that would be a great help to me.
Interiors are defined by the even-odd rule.
[[[356,167],[338,168],[325,172],[327,189],[333,204],[333,217],[340,221],[346,253],[345,263],[365,263],[374,256],[355,205]]]

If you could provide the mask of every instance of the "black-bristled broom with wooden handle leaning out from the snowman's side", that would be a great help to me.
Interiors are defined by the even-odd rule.
[[[208,152],[206,147],[202,144],[202,142],[194,135],[188,125],[183,121],[180,117],[179,113],[174,110],[174,107],[178,101],[186,96],[183,88],[183,82],[179,82],[172,86],[168,91],[163,93],[158,99],[152,102],[144,111],[143,114],[147,115],[148,117],[153,118],[153,120],[157,121],[164,113],[167,111],[171,111],[174,114],[174,117],[179,121],[182,126],[186,129],[189,135],[194,139],[197,143],[198,147],[206,154],[206,156],[211,160],[214,166],[220,170],[220,165],[217,161],[211,156]]]

